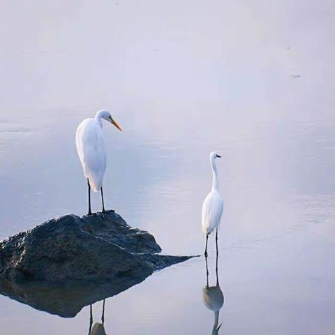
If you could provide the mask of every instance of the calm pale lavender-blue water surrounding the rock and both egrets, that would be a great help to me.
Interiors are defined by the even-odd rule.
[[[0,238],[87,212],[75,128],[105,107],[105,203],[164,253],[203,252],[223,156],[219,334],[334,334],[334,1],[48,2],[1,1]],[[150,276],[105,301],[106,333],[211,334],[206,280],[203,258]],[[89,329],[89,307],[0,311],[1,334]]]

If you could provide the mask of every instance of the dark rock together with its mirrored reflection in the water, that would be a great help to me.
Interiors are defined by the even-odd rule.
[[[0,293],[72,318],[84,306],[191,258],[159,252],[151,234],[131,228],[114,211],[61,216],[0,242]]]

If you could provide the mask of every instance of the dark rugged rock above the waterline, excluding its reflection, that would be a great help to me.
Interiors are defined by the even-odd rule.
[[[131,228],[107,211],[80,218],[54,218],[0,242],[0,278],[7,281],[110,281],[126,276],[143,280],[188,257],[161,251],[148,232]]]

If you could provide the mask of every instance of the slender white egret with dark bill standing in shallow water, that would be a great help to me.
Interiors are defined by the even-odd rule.
[[[221,158],[216,152],[211,152],[209,161],[211,163],[211,170],[213,172],[213,184],[211,191],[204,199],[202,204],[202,231],[206,234],[206,248],[204,255],[207,257],[207,242],[211,232],[216,229],[216,254],[218,254],[218,225],[221,221],[223,211],[223,198],[218,191],[218,171],[216,170],[216,158]]]

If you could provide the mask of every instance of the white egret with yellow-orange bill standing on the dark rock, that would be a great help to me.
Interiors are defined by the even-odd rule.
[[[103,202],[103,176],[107,159],[105,138],[103,137],[103,119],[114,124],[121,131],[121,127],[114,121],[110,112],[100,110],[96,113],[94,119],[84,119],[75,134],[78,156],[89,186],[89,214],[92,214],[91,188],[94,192],[101,191],[101,200]],[[103,202],[104,211],[105,204]]]

